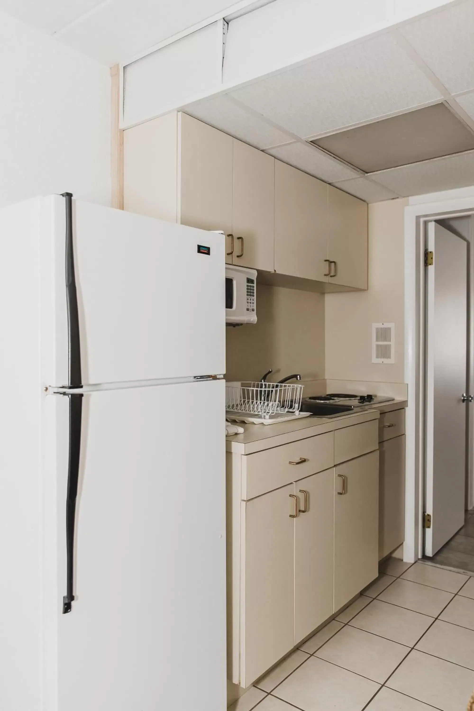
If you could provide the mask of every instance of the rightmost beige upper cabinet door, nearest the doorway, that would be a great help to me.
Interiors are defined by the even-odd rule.
[[[328,186],[328,282],[367,289],[367,203]],[[335,276],[332,276],[335,274]]]

